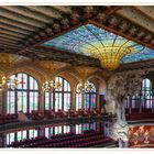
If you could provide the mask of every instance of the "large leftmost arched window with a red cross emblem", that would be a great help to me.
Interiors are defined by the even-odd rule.
[[[30,75],[19,73],[12,75],[10,79],[18,79],[20,84],[15,89],[8,89],[7,113],[31,113],[38,110],[38,85]]]

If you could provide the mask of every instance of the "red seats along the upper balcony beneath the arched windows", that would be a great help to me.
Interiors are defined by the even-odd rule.
[[[44,113],[42,111],[35,111],[32,110],[31,113],[25,113],[25,116],[30,120],[43,120],[43,119],[62,119],[62,118],[85,118],[85,117],[95,117],[95,116],[102,116],[106,114],[105,112],[99,111],[98,109],[79,109],[78,111],[74,109],[69,109],[68,111],[64,110],[58,110],[55,112],[54,110],[45,110]],[[16,114],[4,114],[0,116],[0,124],[3,123],[10,123],[10,122],[16,122],[18,121],[18,116]]]

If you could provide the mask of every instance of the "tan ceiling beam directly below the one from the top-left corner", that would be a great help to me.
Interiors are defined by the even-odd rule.
[[[32,25],[34,28],[45,26],[45,24],[42,22],[38,22],[38,21],[31,19],[31,18],[25,18],[25,16],[18,14],[18,13],[12,13],[8,10],[2,9],[2,8],[0,8],[0,12],[1,12],[0,15],[3,18],[9,18],[11,20]]]

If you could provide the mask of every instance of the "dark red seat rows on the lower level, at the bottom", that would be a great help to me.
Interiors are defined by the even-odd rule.
[[[103,132],[86,131],[82,134],[57,134],[51,139],[40,136],[33,140],[13,142],[9,147],[91,147],[98,144],[111,142],[105,138]]]

